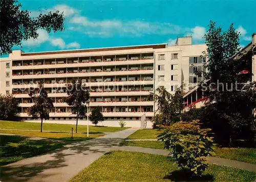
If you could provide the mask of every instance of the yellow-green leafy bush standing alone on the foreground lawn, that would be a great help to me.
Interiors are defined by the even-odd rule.
[[[215,155],[214,141],[207,134],[211,129],[201,129],[199,120],[177,122],[158,136],[164,148],[170,151],[176,163],[189,176],[202,175],[208,167],[207,156]]]

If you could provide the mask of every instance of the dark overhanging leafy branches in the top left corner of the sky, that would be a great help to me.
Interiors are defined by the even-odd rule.
[[[28,10],[21,10],[22,5],[16,0],[0,0],[0,56],[11,53],[14,45],[22,45],[23,40],[38,37],[37,30],[64,30],[63,13],[49,12],[31,17]]]

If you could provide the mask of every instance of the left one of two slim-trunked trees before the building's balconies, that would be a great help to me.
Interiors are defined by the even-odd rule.
[[[30,89],[29,96],[34,102],[29,110],[29,116],[32,116],[32,119],[41,119],[41,129],[42,132],[42,120],[49,120],[49,113],[53,108],[52,100],[48,97],[48,94],[44,88],[44,82],[38,82],[38,89]]]

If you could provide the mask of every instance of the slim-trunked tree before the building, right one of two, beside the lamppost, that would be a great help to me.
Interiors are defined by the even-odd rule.
[[[73,79],[67,84],[68,97],[63,98],[72,107],[72,113],[76,115],[76,133],[78,119],[83,119],[87,115],[87,106],[84,105],[90,98],[90,93],[81,79]]]

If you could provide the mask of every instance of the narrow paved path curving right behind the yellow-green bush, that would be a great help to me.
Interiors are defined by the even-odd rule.
[[[163,149],[153,149],[153,148],[133,147],[133,146],[112,147],[112,150],[143,152],[143,153],[151,153],[151,154],[158,154],[158,155],[165,155],[165,156],[169,154],[168,151]],[[209,157],[209,163],[256,172],[255,164],[244,163],[240,161],[233,161],[225,158]]]

